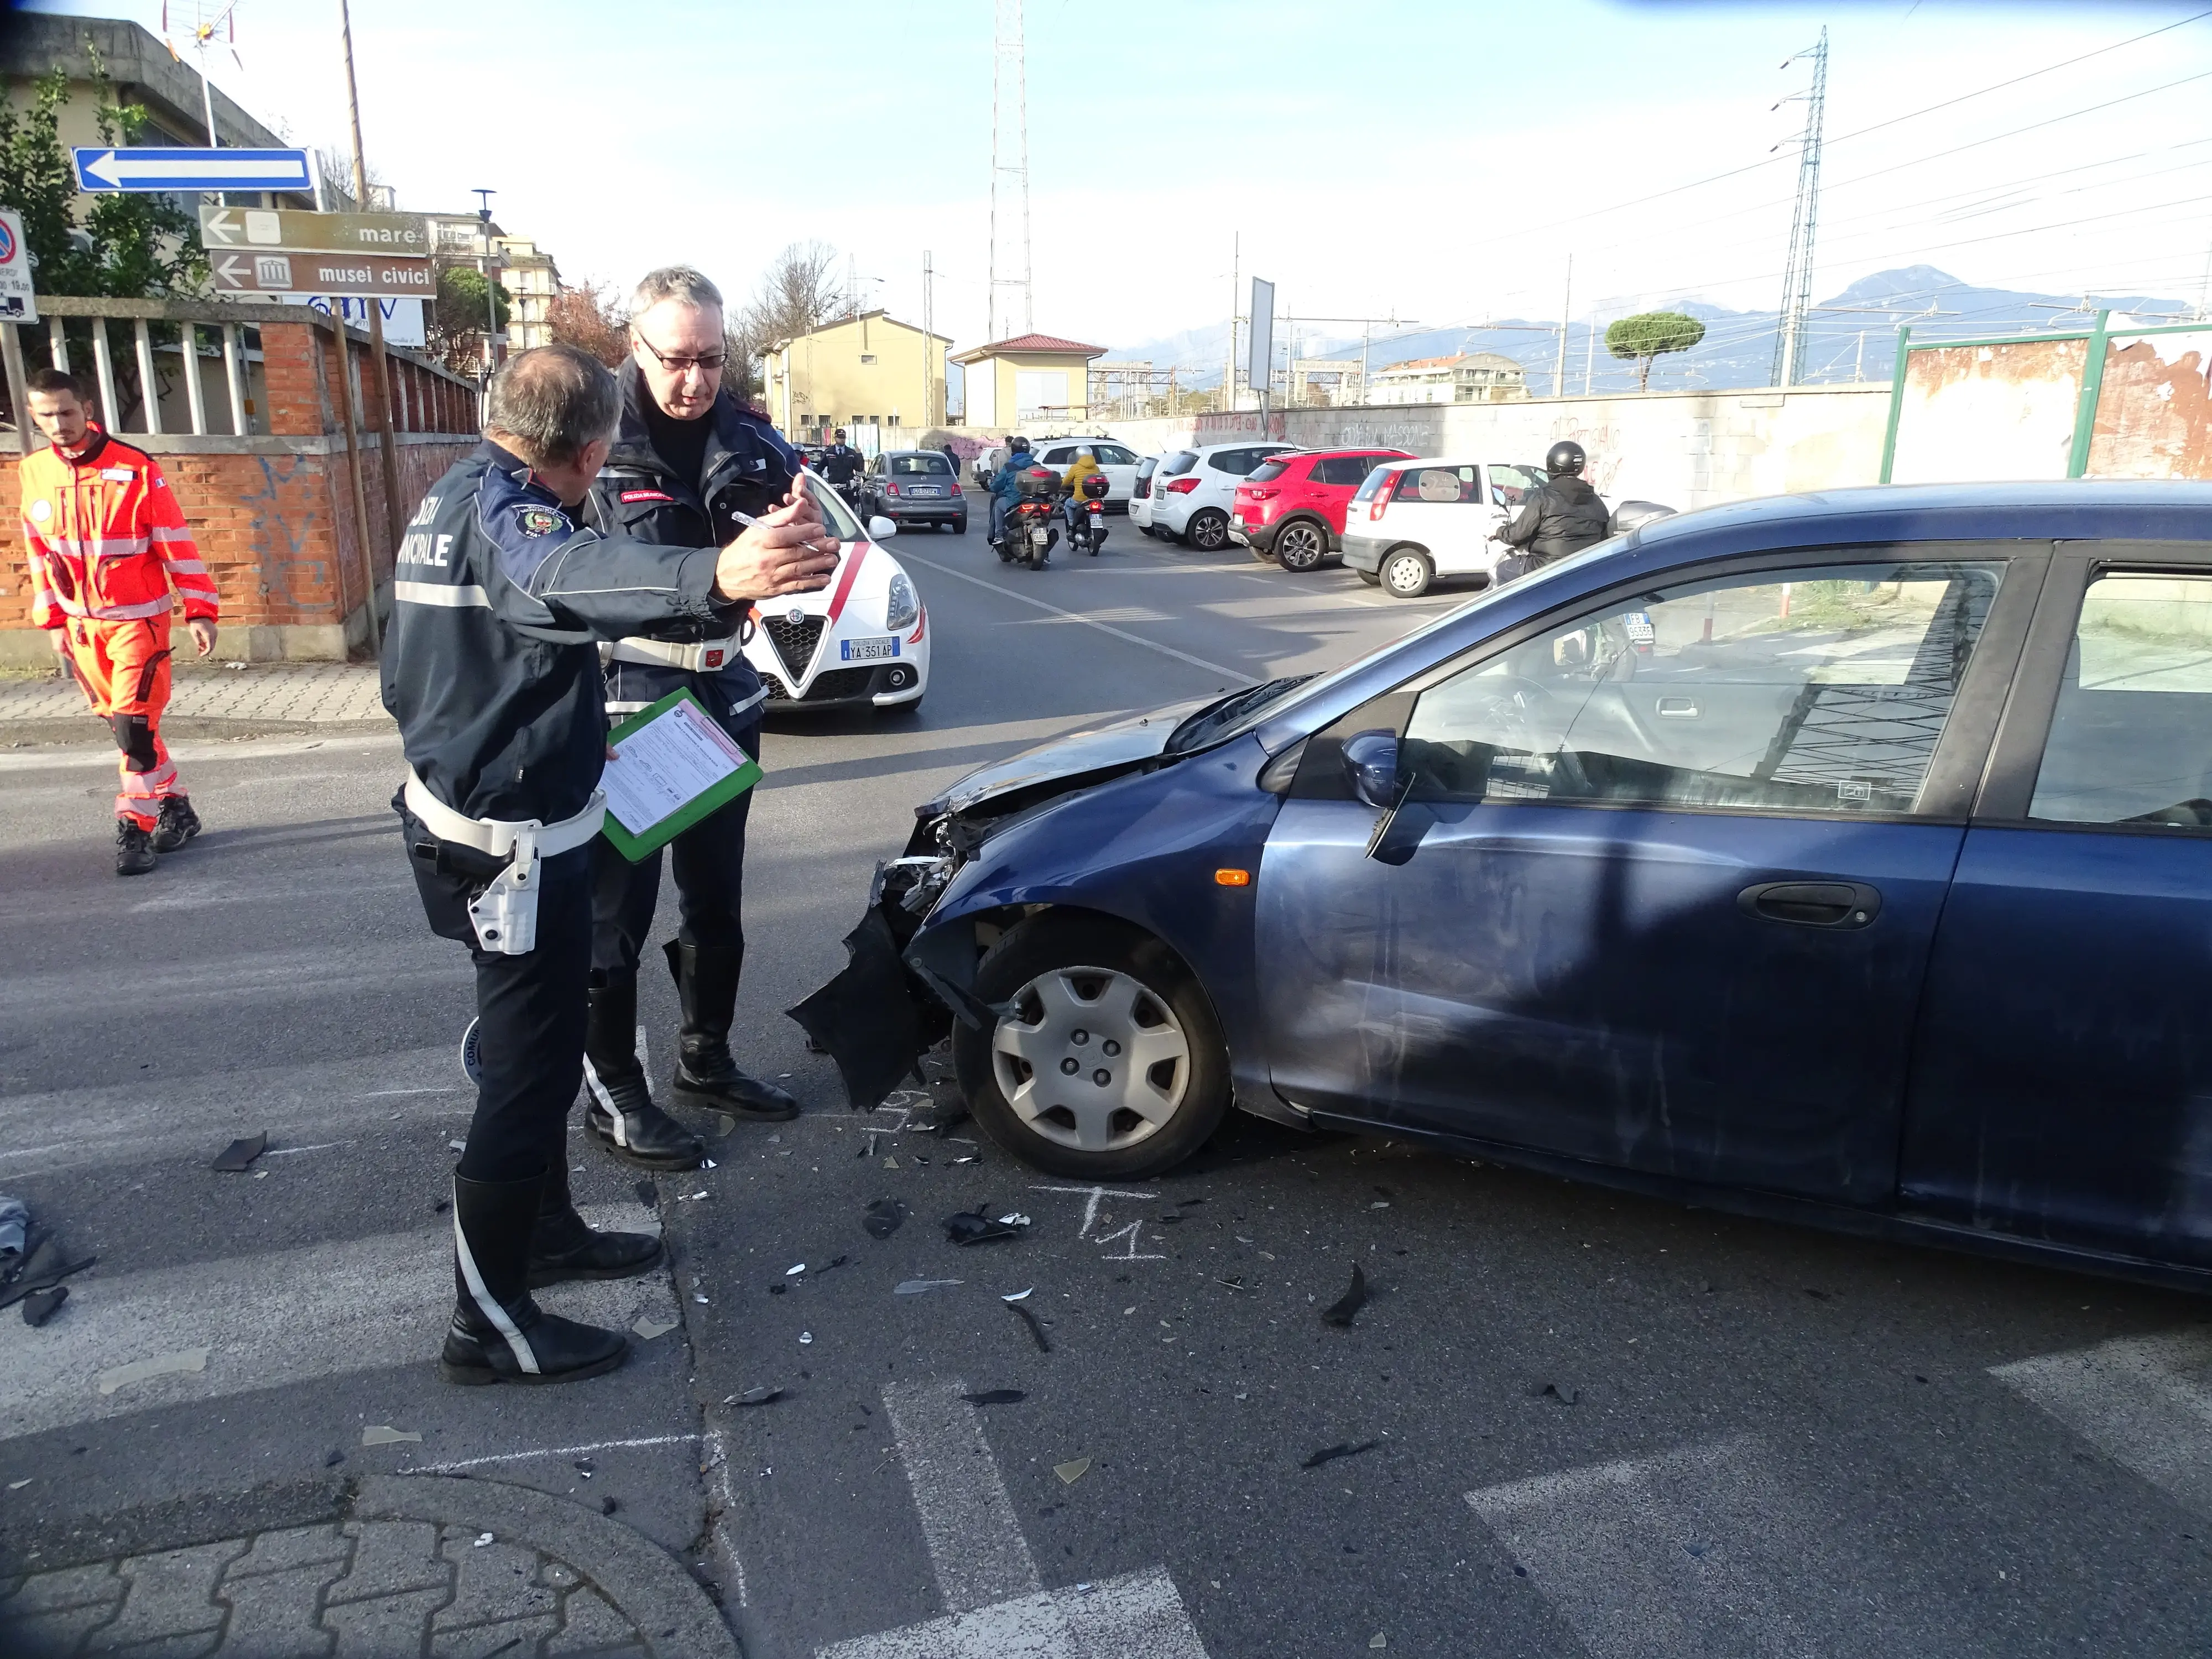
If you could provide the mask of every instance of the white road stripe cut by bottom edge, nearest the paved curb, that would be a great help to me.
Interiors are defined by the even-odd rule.
[[[1206,1644],[1155,1566],[838,1641],[816,1659],[1206,1659]]]

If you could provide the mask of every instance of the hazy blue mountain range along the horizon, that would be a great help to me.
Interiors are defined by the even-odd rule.
[[[2086,310],[2084,310],[2086,307]],[[1798,380],[1838,385],[1887,380],[1896,367],[1898,330],[1911,325],[1913,338],[1980,338],[2088,327],[2097,310],[2110,307],[2146,323],[2188,321],[2188,301],[2152,294],[2033,294],[2011,288],[1978,288],[1936,265],[1902,265],[1860,276],[1840,294],[1807,312],[1805,354]],[[1705,325],[1705,338],[1652,363],[1652,392],[1692,392],[1723,387],[1761,387],[1772,383],[1774,336],[1778,312],[1734,312],[1699,299],[1679,299],[1655,310],[1679,310]],[[1610,321],[1610,319],[1608,319]],[[1144,341],[1110,352],[1097,367],[1113,361],[1150,358],[1155,369],[1181,365],[1186,387],[1221,385],[1230,325],[1186,330],[1157,341]],[[1276,358],[1285,352],[1281,321],[1276,323]],[[1360,341],[1303,336],[1301,356],[1358,361]],[[1528,389],[1548,396],[1559,365],[1557,319],[1504,316],[1482,325],[1436,327],[1378,338],[1367,347],[1369,372],[1422,356],[1455,352],[1498,352],[1528,372]],[[1606,356],[1604,323],[1577,319],[1566,330],[1566,389],[1577,394],[1626,392],[1637,383],[1632,363]]]

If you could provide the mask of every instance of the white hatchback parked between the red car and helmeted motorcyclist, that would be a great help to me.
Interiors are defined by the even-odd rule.
[[[1418,599],[1440,575],[1491,582],[1511,549],[1493,542],[1542,467],[1495,460],[1394,460],[1367,473],[1345,509],[1345,566],[1360,582]]]

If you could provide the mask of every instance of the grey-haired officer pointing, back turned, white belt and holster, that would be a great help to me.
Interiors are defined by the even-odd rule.
[[[456,1307],[438,1360],[451,1383],[617,1367],[619,1332],[546,1314],[531,1290],[659,1259],[650,1234],[593,1232],[568,1199],[608,730],[597,641],[728,626],[834,568],[812,502],[719,551],[580,526],[617,414],[613,376],[584,352],[509,358],[482,447],[431,487],[394,573],[383,692],[407,752],[394,807],[431,931],[469,942],[476,962],[480,1082],[453,1172]]]

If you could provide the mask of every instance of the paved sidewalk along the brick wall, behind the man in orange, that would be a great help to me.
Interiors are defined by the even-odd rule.
[[[164,730],[223,737],[257,730],[387,728],[376,664],[301,661],[243,668],[179,668]],[[84,692],[62,675],[0,679],[0,741],[106,741],[91,726]]]

